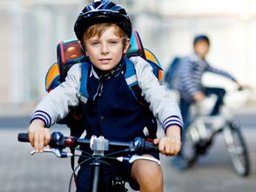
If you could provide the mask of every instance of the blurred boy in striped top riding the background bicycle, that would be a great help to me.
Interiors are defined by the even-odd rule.
[[[205,59],[205,56],[210,49],[210,40],[208,36],[199,35],[195,36],[193,40],[194,53],[190,56],[182,58],[179,62],[179,69],[177,70],[177,88],[179,90],[179,107],[184,121],[184,131],[189,126],[190,108],[192,103],[199,103],[204,100],[205,96],[215,95],[217,100],[213,105],[211,116],[219,114],[219,109],[223,104],[223,99],[226,94],[226,90],[219,87],[205,87],[202,84],[202,76],[205,72],[212,72],[214,74],[225,76],[234,83],[237,83],[239,87],[241,85],[238,81],[229,73],[224,70],[213,68]],[[189,164],[185,162],[182,157],[174,158],[173,164],[179,169],[185,169]]]

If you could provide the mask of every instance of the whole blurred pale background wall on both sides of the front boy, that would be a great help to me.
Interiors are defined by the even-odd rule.
[[[256,89],[254,0],[117,0],[131,13],[145,44],[166,69],[173,56],[192,52],[192,38],[211,38],[208,60]],[[74,37],[73,24],[84,0],[11,0],[0,2],[2,51],[0,105],[35,102],[44,96],[44,75],[56,61],[58,42]],[[4,17],[3,17],[4,16]],[[10,23],[9,23],[10,21]],[[10,38],[10,35],[13,38]],[[10,49],[11,48],[11,49]],[[4,79],[4,80],[3,80]],[[8,79],[7,83],[3,83]],[[213,80],[213,81],[212,81]],[[230,86],[205,76],[205,83]],[[255,94],[256,95],[256,94]],[[252,99],[256,100],[256,96]]]

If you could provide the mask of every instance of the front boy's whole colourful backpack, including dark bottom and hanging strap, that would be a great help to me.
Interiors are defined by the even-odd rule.
[[[132,30],[131,34],[131,47],[127,51],[127,57],[131,56],[141,56],[143,57],[153,69],[154,75],[158,78],[158,81],[162,80],[162,68],[156,56],[152,54],[150,50],[143,47],[138,32]],[[86,59],[81,50],[80,42],[77,39],[67,40],[57,44],[57,63],[54,63],[48,70],[45,76],[45,89],[50,92],[55,89],[60,83],[63,83],[65,77],[67,76],[68,70],[71,66],[77,63],[83,63],[81,66],[82,79],[81,79],[81,103],[76,109],[71,109],[71,112],[63,120],[57,122],[60,124],[66,124],[71,130],[71,136],[80,137],[84,133],[84,126],[81,117],[83,115],[84,103],[86,103],[88,98],[88,93],[86,89],[87,77],[89,72],[89,64],[86,64]],[[135,74],[135,69],[133,63],[129,59],[126,62],[125,80],[129,88],[131,89],[133,96],[138,99],[138,102],[145,106],[144,98],[141,96],[141,89],[138,86],[138,80]],[[84,89],[83,89],[84,88]],[[152,114],[149,114],[152,116]],[[156,122],[155,118],[152,116],[152,120]],[[71,153],[75,154],[75,150],[71,149]],[[74,171],[75,156],[71,156],[71,169]],[[76,180],[77,176],[74,174]]]

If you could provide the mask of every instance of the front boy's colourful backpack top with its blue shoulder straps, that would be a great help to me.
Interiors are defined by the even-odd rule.
[[[162,80],[162,68],[161,64],[158,62],[156,56],[150,50],[143,47],[138,32],[132,30],[131,34],[131,47],[127,51],[127,57],[131,56],[141,56],[143,57],[153,69],[154,75],[158,78],[159,82]],[[133,63],[129,59],[126,62],[125,80],[131,89],[133,96],[138,99],[139,103],[143,103],[143,98],[141,98],[141,90],[138,87],[138,81],[135,74],[135,69]],[[89,70],[89,64],[86,65],[86,59],[81,50],[80,42],[77,39],[67,40],[57,44],[57,63],[54,63],[50,70],[48,70],[45,76],[45,89],[50,92],[55,89],[60,83],[64,82],[67,76],[68,70],[71,66],[76,63],[83,63],[82,65],[82,86],[80,92],[83,97],[88,98],[88,93],[86,89],[87,84],[87,74]],[[84,89],[82,89],[84,88]]]

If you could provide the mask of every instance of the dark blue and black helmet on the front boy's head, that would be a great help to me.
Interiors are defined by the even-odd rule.
[[[84,7],[74,26],[77,39],[82,42],[84,31],[96,23],[116,23],[127,36],[131,36],[130,17],[124,8],[109,0],[94,0]]]

